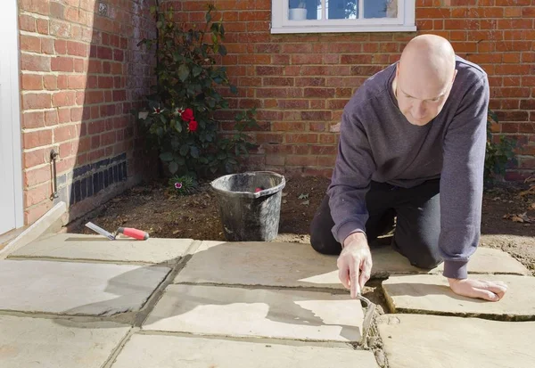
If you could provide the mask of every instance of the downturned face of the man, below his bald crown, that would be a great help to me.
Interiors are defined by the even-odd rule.
[[[407,67],[406,67],[407,68]],[[413,125],[424,126],[439,115],[455,79],[432,80],[417,75],[417,70],[396,70],[395,94],[401,113]]]

